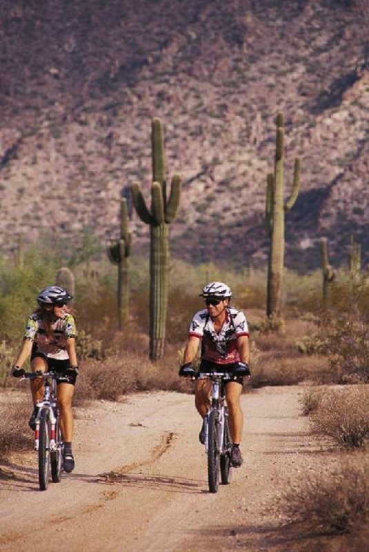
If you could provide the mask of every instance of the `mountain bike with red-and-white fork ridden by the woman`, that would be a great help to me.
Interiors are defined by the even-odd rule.
[[[39,487],[40,491],[48,489],[51,480],[59,483],[63,466],[63,440],[61,437],[59,408],[57,406],[57,380],[63,375],[56,372],[26,373],[25,378],[44,380],[43,400],[37,402],[39,411],[34,431],[34,449],[39,453]]]

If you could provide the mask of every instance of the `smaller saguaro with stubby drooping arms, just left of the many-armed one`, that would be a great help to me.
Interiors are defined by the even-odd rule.
[[[108,246],[110,262],[118,266],[118,325],[121,330],[128,320],[130,297],[130,252],[132,234],[128,232],[127,201],[123,197],[120,201],[121,220],[120,237]]]

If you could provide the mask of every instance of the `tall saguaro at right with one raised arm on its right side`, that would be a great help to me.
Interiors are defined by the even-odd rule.
[[[277,115],[277,134],[275,144],[275,170],[267,177],[266,192],[266,232],[270,238],[268,262],[268,297],[266,313],[268,316],[281,313],[281,297],[284,267],[285,213],[295,204],[300,188],[300,159],[295,159],[292,194],[288,201],[283,197],[283,115]]]

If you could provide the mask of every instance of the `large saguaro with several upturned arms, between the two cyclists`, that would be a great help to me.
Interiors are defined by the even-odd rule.
[[[168,307],[169,225],[177,214],[181,199],[181,178],[172,177],[167,197],[164,135],[160,119],[152,119],[151,208],[146,206],[139,184],[131,188],[134,208],[141,221],[150,226],[150,359],[163,356]]]

